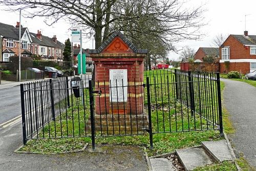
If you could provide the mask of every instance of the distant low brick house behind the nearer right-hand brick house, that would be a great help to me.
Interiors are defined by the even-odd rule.
[[[216,58],[216,60],[219,59],[219,48],[204,48],[200,47],[196,54],[195,54],[195,60],[204,61],[204,57],[213,56]]]

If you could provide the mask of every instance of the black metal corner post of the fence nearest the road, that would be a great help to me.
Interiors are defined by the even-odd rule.
[[[27,143],[26,133],[26,118],[25,118],[25,99],[24,99],[24,84],[20,84],[20,100],[22,105],[22,132],[23,132],[23,144]]]

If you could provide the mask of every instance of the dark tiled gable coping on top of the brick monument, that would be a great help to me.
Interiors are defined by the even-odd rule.
[[[104,42],[102,42],[101,46],[98,49],[90,49],[89,53],[100,53],[103,49],[106,48],[110,44],[110,42],[116,37],[119,36],[126,45],[129,46],[129,48],[134,52],[134,53],[147,53],[147,49],[138,49],[132,41],[127,39],[120,31],[116,30],[114,31],[111,36],[106,39]]]

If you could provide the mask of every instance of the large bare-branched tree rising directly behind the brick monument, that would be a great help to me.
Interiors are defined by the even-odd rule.
[[[198,39],[204,25],[202,6],[187,8],[180,0],[0,0],[0,5],[10,11],[36,6],[34,13],[25,16],[46,17],[48,25],[61,18],[80,25],[87,32],[95,32],[96,48],[119,29],[143,34],[147,39],[158,37],[166,50],[176,50],[174,42]]]

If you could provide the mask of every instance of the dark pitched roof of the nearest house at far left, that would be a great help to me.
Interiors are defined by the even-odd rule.
[[[26,30],[27,30],[26,27],[21,29],[22,36]],[[6,38],[19,39],[19,28],[15,28],[11,25],[0,23],[0,35],[4,36]]]

